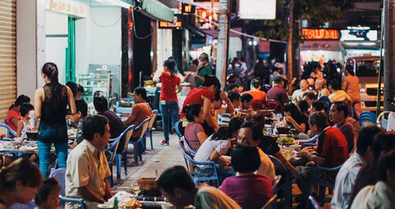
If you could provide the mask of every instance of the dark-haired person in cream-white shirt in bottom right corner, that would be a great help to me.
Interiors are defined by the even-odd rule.
[[[378,164],[378,182],[356,195],[351,209],[395,208],[395,152],[384,156]]]

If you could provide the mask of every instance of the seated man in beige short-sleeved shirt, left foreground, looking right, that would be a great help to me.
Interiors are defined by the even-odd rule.
[[[111,171],[104,148],[110,140],[108,119],[101,115],[83,120],[84,140],[67,158],[66,197],[82,198],[88,209],[97,209],[99,203],[113,196],[109,180]],[[77,209],[78,204],[67,202],[66,209]]]

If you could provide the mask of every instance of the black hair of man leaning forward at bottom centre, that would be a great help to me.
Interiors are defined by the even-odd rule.
[[[166,169],[160,174],[158,187],[166,193],[174,195],[175,188],[192,192],[195,188],[195,184],[185,167],[174,166]]]

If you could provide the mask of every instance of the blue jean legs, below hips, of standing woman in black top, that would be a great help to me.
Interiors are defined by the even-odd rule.
[[[52,143],[43,143],[37,140],[37,146],[39,147],[39,157],[40,157],[40,170],[44,178],[49,176],[49,160],[51,155],[51,145]],[[69,149],[68,142],[56,143],[55,153],[57,156],[57,165],[59,168],[66,169],[67,161],[67,151]]]

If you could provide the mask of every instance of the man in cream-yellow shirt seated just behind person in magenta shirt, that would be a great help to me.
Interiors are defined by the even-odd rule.
[[[266,175],[272,180],[276,179],[275,165],[270,160],[270,158],[259,148],[259,144],[263,139],[263,132],[261,126],[251,122],[246,121],[241,125],[238,131],[237,144],[243,146],[256,147],[261,158],[261,166],[256,171],[256,174]]]

